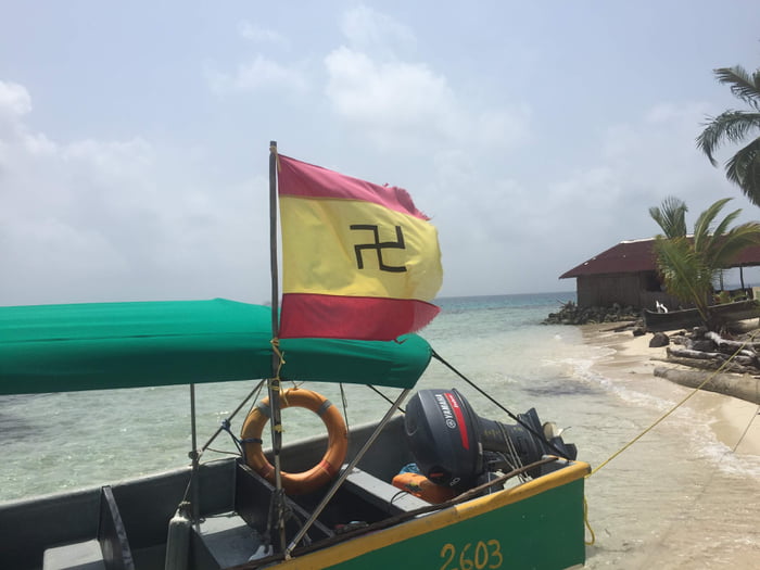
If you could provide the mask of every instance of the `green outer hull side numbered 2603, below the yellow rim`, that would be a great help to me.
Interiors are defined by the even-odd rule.
[[[586,464],[571,464],[517,487],[347,541],[278,568],[482,570],[582,566],[587,470]]]

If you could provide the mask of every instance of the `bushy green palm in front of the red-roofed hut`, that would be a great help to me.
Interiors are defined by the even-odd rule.
[[[655,238],[657,267],[666,290],[681,301],[694,304],[709,328],[717,326],[709,309],[715,276],[721,269],[730,267],[742,250],[760,243],[759,223],[748,221],[730,227],[742,210],[727,214],[713,228],[713,221],[730,200],[719,200],[702,212],[694,225],[693,236],[686,236],[685,231],[672,232],[672,226],[681,227],[679,213],[683,215],[686,211],[682,201],[670,198],[659,208],[649,208],[649,215],[666,232]],[[676,224],[671,224],[673,218]]]

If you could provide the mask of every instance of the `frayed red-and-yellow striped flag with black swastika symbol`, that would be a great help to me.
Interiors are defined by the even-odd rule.
[[[279,155],[280,338],[392,340],[439,313],[438,231],[401,188]]]

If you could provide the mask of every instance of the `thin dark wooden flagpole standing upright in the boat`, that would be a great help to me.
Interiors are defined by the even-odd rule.
[[[267,383],[271,409],[271,448],[275,458],[275,516],[279,529],[281,548],[286,547],[282,495],[282,476],[280,473],[280,449],[282,448],[282,421],[280,414],[280,362],[279,352],[279,283],[277,264],[277,141],[269,141],[269,266],[271,273],[271,378]]]

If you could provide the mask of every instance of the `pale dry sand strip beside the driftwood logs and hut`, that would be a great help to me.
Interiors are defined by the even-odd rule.
[[[630,330],[615,331],[613,328],[613,322],[581,326],[584,342],[615,351],[605,360],[596,363],[595,369],[618,380],[629,375],[646,375],[657,382],[679,385],[664,378],[655,377],[656,366],[685,368],[664,363],[667,349],[650,349],[650,333],[634,337]],[[684,397],[694,392],[694,389],[682,388]],[[760,416],[757,404],[725,394],[699,391],[691,396],[684,406],[706,417],[717,439],[733,453],[760,456]]]

